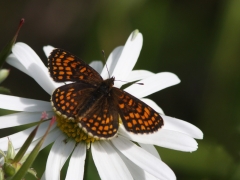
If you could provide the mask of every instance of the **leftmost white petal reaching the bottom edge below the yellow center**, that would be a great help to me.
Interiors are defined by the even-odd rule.
[[[47,159],[45,172],[46,179],[60,179],[60,171],[62,169],[62,166],[66,162],[69,155],[72,153],[75,145],[75,142],[72,140],[65,142],[66,139],[67,137],[62,134],[54,142]]]

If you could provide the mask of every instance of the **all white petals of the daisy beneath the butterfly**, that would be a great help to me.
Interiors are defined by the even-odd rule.
[[[178,77],[169,72],[154,74],[146,70],[132,70],[142,48],[142,34],[134,31],[125,46],[113,50],[107,60],[111,76],[115,76],[116,87],[124,82],[139,82],[144,85],[133,84],[125,89],[130,94],[150,105],[161,113],[164,126],[158,132],[150,135],[136,135],[127,132],[120,125],[118,136],[111,140],[95,141],[91,144],[93,160],[101,179],[176,179],[174,172],[160,159],[153,145],[180,151],[192,152],[197,149],[196,139],[202,139],[203,134],[197,127],[185,121],[163,115],[161,108],[148,98],[143,98],[161,89],[178,84]],[[53,47],[44,47],[48,56]],[[16,43],[7,62],[28,74],[51,95],[53,90],[63,83],[54,82],[37,54],[26,44]],[[90,64],[103,79],[109,78],[106,66],[99,61]],[[42,112],[49,117],[54,116],[50,102],[26,99],[21,97],[0,95],[0,108],[20,111],[0,117],[0,128],[14,127],[39,121]],[[43,136],[48,121],[40,125],[31,148]],[[34,127],[8,136],[14,147],[20,148]],[[137,146],[134,142],[137,142]],[[0,149],[6,150],[7,137],[0,139]],[[46,171],[42,179],[57,180],[60,170],[72,153],[66,179],[83,179],[84,163],[87,144],[83,141],[76,143],[69,139],[55,125],[48,134],[42,148],[53,143],[48,156]]]

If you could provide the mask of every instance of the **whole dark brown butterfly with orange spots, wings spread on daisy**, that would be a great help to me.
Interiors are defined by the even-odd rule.
[[[135,134],[148,134],[163,126],[153,108],[133,95],[114,87],[114,77],[103,80],[80,58],[63,49],[54,49],[48,58],[50,76],[58,87],[51,96],[54,111],[75,121],[89,136],[110,139],[119,124]]]

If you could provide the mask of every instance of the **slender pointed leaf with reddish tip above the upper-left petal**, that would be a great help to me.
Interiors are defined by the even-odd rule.
[[[1,50],[0,52],[0,67],[2,67],[3,63],[5,62],[6,58],[8,57],[8,55],[10,54],[11,50],[12,50],[12,46],[14,45],[14,43],[16,42],[19,30],[21,29],[22,25],[24,23],[24,19],[21,19],[20,24],[18,26],[17,32],[15,34],[15,36],[13,37],[13,39],[6,44],[6,46]]]

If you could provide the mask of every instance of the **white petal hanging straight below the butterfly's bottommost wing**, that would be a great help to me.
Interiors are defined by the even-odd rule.
[[[102,142],[94,142],[91,147],[93,160],[97,167],[100,178],[103,180],[121,180],[121,177],[124,177],[125,173],[130,175],[127,168],[125,167],[125,164],[122,162],[121,158],[117,155],[114,149],[112,147],[109,148],[109,146],[106,147],[105,144],[106,143]],[[123,174],[120,174],[120,172],[122,173],[122,168],[120,169],[120,171],[119,169],[117,169],[117,167],[119,167],[119,165],[116,164],[118,163],[118,160],[120,165],[124,165],[122,166],[122,168],[126,170],[126,172],[123,172]]]

